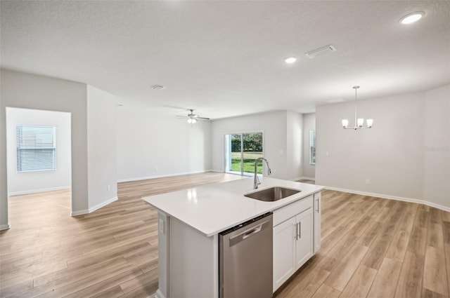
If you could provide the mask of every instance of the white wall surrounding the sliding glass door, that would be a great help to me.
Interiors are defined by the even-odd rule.
[[[273,111],[212,121],[212,168],[218,172],[224,171],[224,135],[262,131],[264,157],[270,163],[271,177],[300,177],[302,134],[299,131],[302,129],[302,116],[295,114],[297,113],[290,111]],[[292,139],[293,135],[297,137],[295,140]]]

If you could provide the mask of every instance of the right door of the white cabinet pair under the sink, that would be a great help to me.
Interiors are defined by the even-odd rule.
[[[295,245],[295,270],[299,269],[313,253],[313,215],[312,208],[300,213],[295,217],[294,233],[296,235]]]

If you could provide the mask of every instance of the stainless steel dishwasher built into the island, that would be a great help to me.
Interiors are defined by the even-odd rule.
[[[272,297],[272,212],[219,233],[219,297]]]

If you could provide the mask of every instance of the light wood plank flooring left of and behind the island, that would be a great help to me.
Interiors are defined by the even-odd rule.
[[[153,297],[158,213],[142,196],[240,179],[206,173],[120,183],[119,200],[70,217],[70,191],[9,198],[0,297]]]

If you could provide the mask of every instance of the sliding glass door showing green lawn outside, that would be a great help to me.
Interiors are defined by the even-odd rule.
[[[224,135],[225,172],[237,175],[254,175],[255,160],[264,156],[263,133],[233,133]],[[262,174],[262,161],[257,173]]]

